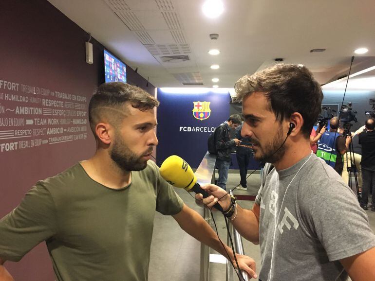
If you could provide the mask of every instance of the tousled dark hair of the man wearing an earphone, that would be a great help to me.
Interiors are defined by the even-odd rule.
[[[270,109],[283,121],[293,112],[303,117],[301,131],[308,138],[321,110],[323,93],[313,74],[304,66],[277,64],[253,75],[245,75],[235,84],[237,97],[243,99],[254,92],[264,92]]]

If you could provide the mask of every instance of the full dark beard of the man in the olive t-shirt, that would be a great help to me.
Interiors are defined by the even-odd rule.
[[[152,148],[148,149],[141,155],[137,155],[125,144],[120,134],[116,133],[115,140],[111,151],[111,158],[116,165],[123,171],[141,171],[147,167],[147,161],[142,157],[151,153]]]

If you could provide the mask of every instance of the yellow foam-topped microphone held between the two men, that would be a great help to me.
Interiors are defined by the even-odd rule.
[[[177,155],[169,156],[169,158],[164,160],[160,167],[160,175],[175,187],[183,188],[188,192],[201,193],[203,198],[209,196],[199,183],[197,183],[197,177],[194,175],[189,164]],[[223,211],[219,203],[216,203],[214,207],[219,211]]]

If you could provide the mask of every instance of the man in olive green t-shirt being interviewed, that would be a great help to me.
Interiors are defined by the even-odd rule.
[[[19,261],[46,241],[56,280],[148,278],[155,211],[172,215],[187,233],[232,262],[204,219],[188,208],[150,160],[159,102],[140,88],[101,85],[89,105],[96,140],[92,158],[39,181],[0,220],[0,281],[13,280],[2,265]],[[236,255],[256,278],[255,263]]]

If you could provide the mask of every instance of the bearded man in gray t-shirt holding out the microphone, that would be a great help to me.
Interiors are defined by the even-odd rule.
[[[252,210],[215,185],[202,186],[208,207],[261,246],[259,280],[375,280],[375,235],[356,195],[314,155],[309,135],[323,94],[305,67],[279,64],[235,85],[242,101],[241,135],[267,162]],[[201,194],[196,195],[202,199]]]

